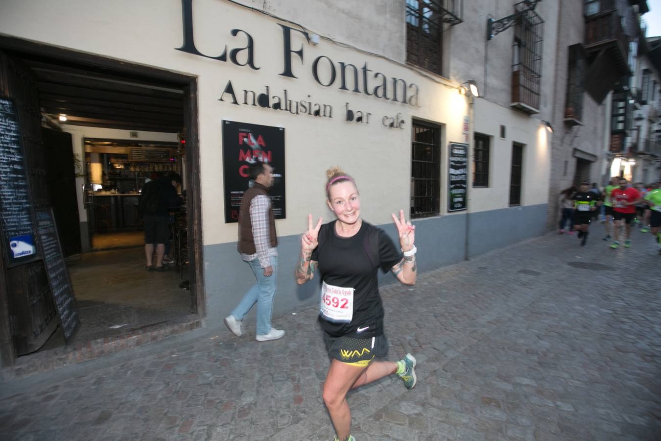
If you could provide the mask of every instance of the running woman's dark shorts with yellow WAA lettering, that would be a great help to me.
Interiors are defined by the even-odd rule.
[[[388,354],[388,339],[385,335],[376,335],[367,339],[354,337],[324,337],[329,356],[345,364],[366,367],[376,357],[383,358]]]

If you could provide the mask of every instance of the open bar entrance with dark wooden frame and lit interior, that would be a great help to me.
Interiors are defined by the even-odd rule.
[[[69,343],[120,339],[204,315],[201,250],[194,246],[202,241],[196,80],[0,37],[0,87],[19,112],[28,202],[52,208],[57,224],[80,321]],[[167,271],[147,272],[139,192],[146,180],[171,173],[182,178],[177,190],[185,200],[169,211],[171,262]],[[0,294],[0,314],[15,324],[0,326],[4,366],[65,344],[39,276],[43,265],[0,268],[0,284],[9,288]]]

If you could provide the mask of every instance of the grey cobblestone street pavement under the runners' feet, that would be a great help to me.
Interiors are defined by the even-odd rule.
[[[617,251],[593,236],[382,287],[389,358],[415,354],[418,385],[352,391],[356,440],[661,439],[661,255],[638,231]],[[262,343],[254,324],[200,329],[1,384],[0,439],[331,440],[315,321],[276,317],[286,337]]]

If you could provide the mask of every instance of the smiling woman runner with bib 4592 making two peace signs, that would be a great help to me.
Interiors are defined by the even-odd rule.
[[[336,220],[313,225],[301,238],[301,259],[296,281],[304,284],[315,272],[321,277],[319,323],[331,366],[323,387],[323,400],[335,428],[336,440],[355,441],[351,411],[346,401],[349,389],[397,374],[407,389],[416,384],[416,359],[411,354],[397,362],[375,361],[387,355],[383,333],[383,304],[377,272],[391,270],[403,284],[416,282],[415,227],[404,211],[393,221],[399,246],[379,227],[360,218],[360,194],[356,182],[339,167],[327,171],[327,204]]]

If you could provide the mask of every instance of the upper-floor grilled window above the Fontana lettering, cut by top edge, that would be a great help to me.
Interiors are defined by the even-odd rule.
[[[407,0],[407,61],[442,73],[443,31],[459,24],[460,0]]]

